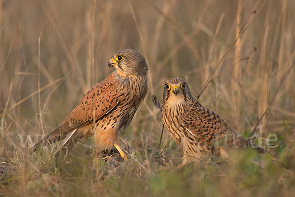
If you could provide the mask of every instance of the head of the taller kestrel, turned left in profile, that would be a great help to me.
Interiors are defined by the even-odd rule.
[[[147,75],[148,65],[145,58],[137,51],[124,49],[116,52],[108,62],[109,67],[115,67],[120,77],[132,75]]]

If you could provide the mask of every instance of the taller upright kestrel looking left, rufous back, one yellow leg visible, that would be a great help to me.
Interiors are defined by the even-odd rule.
[[[61,125],[35,144],[33,151],[41,144],[62,139],[61,147],[65,145],[70,150],[77,140],[94,135],[98,152],[114,145],[127,158],[118,146],[117,134],[128,127],[147,94],[148,65],[139,52],[125,49],[116,52],[108,66],[116,70],[92,87]]]

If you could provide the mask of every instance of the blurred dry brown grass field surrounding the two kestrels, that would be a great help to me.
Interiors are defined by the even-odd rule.
[[[150,96],[161,101],[172,77],[184,78],[197,96],[250,16],[215,76],[223,74],[199,99],[248,137],[294,64],[294,10],[293,0],[0,0],[0,195],[292,196],[295,69],[260,123],[264,145],[269,134],[278,136],[270,150],[278,162],[241,150],[232,153],[236,164],[172,170],[181,150],[171,141],[158,154],[162,122]],[[148,95],[120,133],[131,147],[129,161],[96,159],[91,138],[59,167],[50,151],[31,155],[29,141],[22,147],[20,136],[34,141],[56,128],[126,48],[149,66]],[[164,131],[163,142],[168,138]]]

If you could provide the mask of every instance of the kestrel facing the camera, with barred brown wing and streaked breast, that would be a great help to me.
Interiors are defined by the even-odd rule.
[[[195,102],[183,79],[169,79],[164,86],[162,119],[170,135],[183,151],[182,164],[202,157],[228,158],[227,148],[254,145],[236,133],[213,111]],[[191,108],[189,114],[185,114]],[[183,122],[180,124],[181,120]],[[177,129],[178,128],[178,129]],[[262,148],[255,146],[259,151]]]

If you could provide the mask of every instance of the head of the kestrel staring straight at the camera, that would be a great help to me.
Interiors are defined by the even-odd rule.
[[[183,79],[175,77],[166,81],[163,92],[163,104],[178,104],[193,100],[190,90]]]

